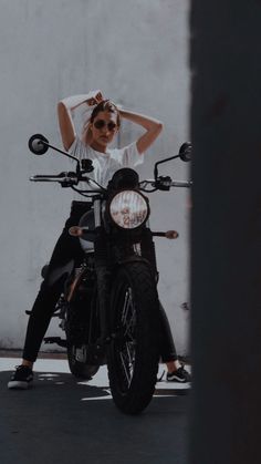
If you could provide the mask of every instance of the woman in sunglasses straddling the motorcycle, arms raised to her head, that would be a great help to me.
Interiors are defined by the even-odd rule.
[[[88,113],[91,110],[91,116],[86,117],[84,122],[81,138],[76,134],[73,124],[73,111],[80,106],[84,106],[88,110]],[[94,165],[93,179],[104,187],[107,186],[112,175],[118,168],[123,166],[134,167],[142,163],[144,152],[154,143],[163,130],[163,124],[157,120],[118,110],[114,103],[103,99],[101,91],[63,99],[58,104],[58,117],[64,148],[80,159],[91,158]],[[109,149],[107,146],[113,142],[119,130],[121,118],[126,118],[140,125],[145,132],[136,142],[119,149]],[[36,360],[43,337],[55,310],[55,305],[63,290],[63,281],[60,279],[53,283],[51,276],[55,269],[69,262],[72,257],[81,261],[82,249],[79,239],[70,236],[69,228],[79,223],[87,208],[87,202],[74,200],[72,203],[71,215],[55,245],[49,264],[48,275],[41,285],[30,315],[22,363],[12,374],[8,383],[9,389],[28,389],[32,384],[33,363]],[[167,380],[188,381],[189,374],[178,362],[164,310],[161,310],[161,359],[167,364]]]

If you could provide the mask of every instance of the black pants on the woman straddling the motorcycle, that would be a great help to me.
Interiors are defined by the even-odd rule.
[[[23,359],[34,362],[36,360],[42,340],[50,324],[50,320],[55,310],[56,302],[63,291],[64,279],[56,280],[51,283],[51,278],[55,269],[65,266],[70,260],[82,260],[83,250],[81,248],[79,238],[72,237],[69,234],[69,228],[79,224],[81,216],[90,209],[90,204],[86,202],[73,202],[71,215],[65,223],[64,229],[54,247],[48,274],[41,285],[38,297],[32,307],[32,312],[29,318]],[[160,305],[161,315],[161,349],[160,355],[163,362],[174,361],[177,359],[177,353],[168,323],[167,316]]]

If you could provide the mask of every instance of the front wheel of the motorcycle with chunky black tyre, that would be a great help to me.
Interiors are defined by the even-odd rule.
[[[114,338],[108,348],[108,379],[117,408],[140,413],[150,402],[159,361],[159,301],[145,262],[119,268],[112,289]]]

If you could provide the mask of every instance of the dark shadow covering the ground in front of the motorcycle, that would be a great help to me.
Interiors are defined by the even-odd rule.
[[[158,390],[143,414],[127,416],[107,386],[36,372],[32,389],[10,391],[10,374],[0,372],[2,464],[187,463],[188,391]]]

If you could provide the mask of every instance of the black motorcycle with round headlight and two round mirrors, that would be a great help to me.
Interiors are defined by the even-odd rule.
[[[66,348],[69,367],[76,378],[92,379],[107,364],[114,403],[126,414],[138,414],[152,401],[159,363],[160,302],[153,238],[178,237],[175,230],[150,230],[146,194],[191,186],[191,182],[158,175],[161,163],[190,161],[191,144],[184,143],[178,155],[157,162],[153,179],[139,182],[134,169],[121,168],[107,188],[88,176],[93,171],[90,159],[80,162],[43,135],[31,136],[29,148],[35,155],[52,148],[76,163],[73,172],[34,175],[30,181],[56,182],[91,202],[91,209],[69,230],[81,243],[82,264],[75,267],[71,261],[61,270],[64,290],[54,317],[61,319],[65,339],[49,337],[44,341]],[[87,188],[79,188],[80,182]]]

